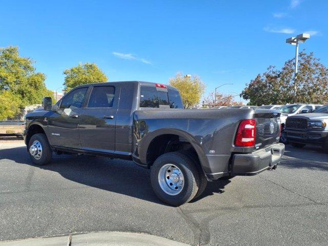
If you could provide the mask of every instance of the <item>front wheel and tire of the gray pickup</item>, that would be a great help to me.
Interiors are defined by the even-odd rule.
[[[47,136],[43,133],[34,134],[29,141],[29,155],[35,165],[48,164],[52,158],[52,150]]]

